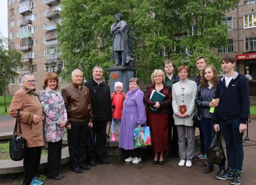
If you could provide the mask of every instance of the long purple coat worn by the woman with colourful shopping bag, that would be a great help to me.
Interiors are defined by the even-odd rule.
[[[139,88],[128,91],[124,99],[121,125],[119,130],[119,148],[133,150],[134,132],[138,125],[146,124],[146,112],[143,92]]]

